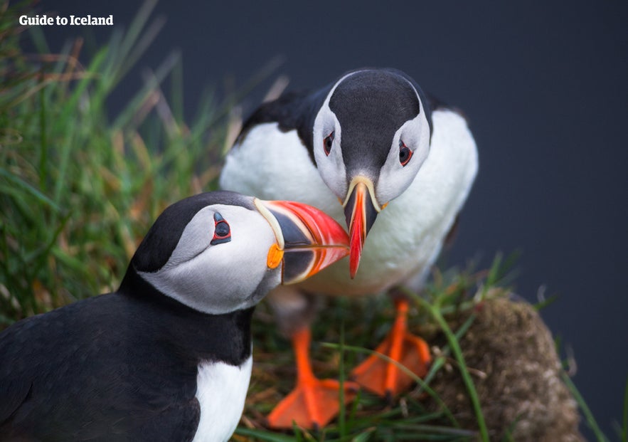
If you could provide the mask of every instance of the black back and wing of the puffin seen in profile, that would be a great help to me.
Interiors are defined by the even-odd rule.
[[[0,441],[193,438],[196,364],[164,351],[144,332],[156,321],[122,298],[90,298],[4,330]]]

